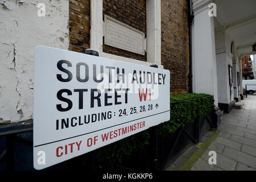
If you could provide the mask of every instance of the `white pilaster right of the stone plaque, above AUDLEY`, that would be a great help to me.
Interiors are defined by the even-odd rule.
[[[161,1],[147,0],[147,61],[161,65]]]

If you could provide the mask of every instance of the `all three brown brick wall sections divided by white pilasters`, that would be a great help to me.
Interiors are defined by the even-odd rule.
[[[90,47],[90,0],[70,0],[71,51],[84,52]],[[104,14],[144,32],[147,37],[146,0],[103,0]],[[139,55],[103,45],[103,52],[147,61]],[[189,90],[189,26],[186,0],[161,1],[161,63],[170,70],[170,93]]]

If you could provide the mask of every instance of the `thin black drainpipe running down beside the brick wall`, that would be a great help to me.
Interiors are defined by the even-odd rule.
[[[192,9],[192,0],[188,0],[188,23],[189,23],[189,93],[193,93],[193,74],[192,74],[192,23],[194,12]]]

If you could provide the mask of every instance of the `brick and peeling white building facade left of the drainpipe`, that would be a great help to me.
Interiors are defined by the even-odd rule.
[[[0,1],[0,122],[33,118],[34,49],[49,46],[170,70],[170,93],[189,92],[189,1]],[[143,35],[140,53],[110,45],[110,23]],[[111,22],[112,20],[112,22]],[[136,41],[136,40],[135,40]],[[141,46],[141,45],[140,45]]]

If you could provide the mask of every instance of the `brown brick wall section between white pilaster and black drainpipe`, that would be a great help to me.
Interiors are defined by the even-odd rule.
[[[170,70],[170,93],[189,90],[189,25],[186,0],[161,1],[161,63]]]

